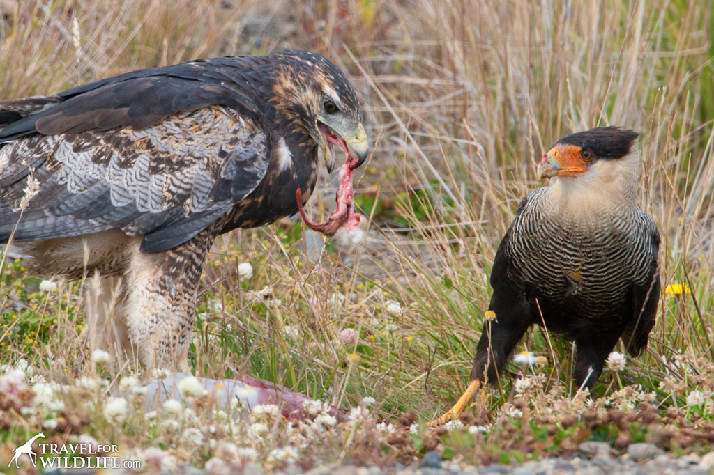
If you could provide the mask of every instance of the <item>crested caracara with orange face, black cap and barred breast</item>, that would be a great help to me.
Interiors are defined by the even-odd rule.
[[[591,387],[622,337],[635,356],[655,323],[659,232],[637,205],[639,134],[617,127],[565,136],[538,163],[553,184],[528,193],[496,252],[488,309],[471,385],[495,383],[518,341],[541,325],[575,342],[575,382]]]

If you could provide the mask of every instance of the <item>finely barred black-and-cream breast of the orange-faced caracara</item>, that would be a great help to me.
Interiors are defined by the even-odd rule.
[[[537,297],[543,312],[607,317],[625,305],[633,284],[651,279],[655,224],[637,207],[597,219],[559,213],[548,190],[531,192],[513,222],[506,248],[511,277],[535,294],[526,297]]]

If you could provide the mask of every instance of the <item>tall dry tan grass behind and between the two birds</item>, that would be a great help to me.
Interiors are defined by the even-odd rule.
[[[647,354],[628,362],[621,382],[605,374],[595,393],[641,384],[663,410],[703,384],[703,361],[714,355],[713,5],[22,1],[0,24],[0,98],[284,47],[318,51],[351,73],[368,132],[380,137],[358,177],[358,204],[371,217],[366,245],[328,245],[316,258],[298,225],[231,233],[209,257],[191,359],[197,375],[244,370],[342,407],[374,396],[389,420],[406,410],[432,417],[461,391],[496,247],[518,201],[540,185],[536,158],[571,131],[641,131],[640,204],[663,234],[663,286],[691,293],[663,292]],[[254,276],[238,282],[243,261]],[[94,373],[79,356],[81,285],[46,294],[21,262],[5,272],[2,362],[24,358],[53,379]],[[256,298],[266,287],[273,305]],[[392,301],[403,312],[388,312]],[[360,344],[340,343],[346,327],[359,330]],[[575,394],[569,344],[553,339],[550,348],[533,331],[524,348],[548,357],[543,371],[551,386],[565,385],[561,397]],[[678,387],[660,389],[670,379]],[[513,399],[503,389],[489,407]],[[4,440],[34,430],[19,427]],[[151,440],[136,435],[134,444]]]

